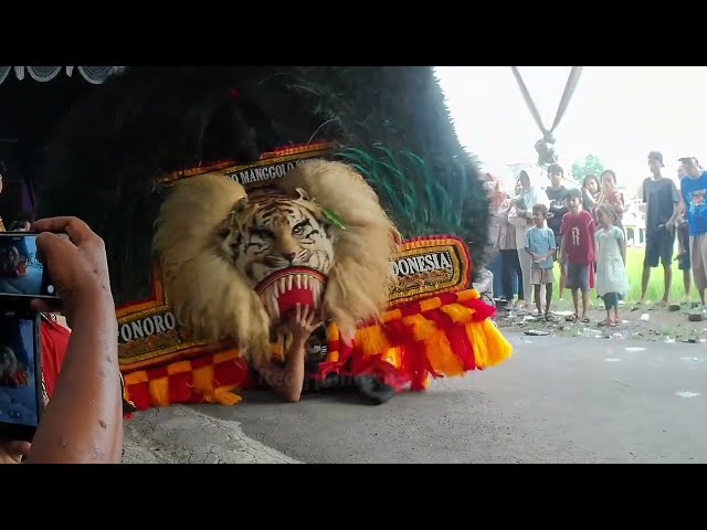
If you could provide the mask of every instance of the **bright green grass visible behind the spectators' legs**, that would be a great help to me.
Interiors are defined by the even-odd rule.
[[[677,252],[677,250],[676,250]],[[626,248],[626,273],[629,276],[629,284],[631,285],[631,292],[626,296],[626,301],[637,301],[641,298],[641,276],[643,274],[643,256],[645,255],[644,248]],[[558,290],[560,285],[560,268],[559,265],[555,265],[555,288],[553,300],[558,300]],[[648,289],[646,293],[646,300],[658,301],[663,299],[665,287],[663,279],[663,266],[651,269],[651,280],[648,282]],[[595,297],[595,292],[592,297]],[[570,293],[564,293],[564,299],[571,299]],[[678,271],[677,262],[673,262],[673,282],[671,285],[669,301],[683,301],[685,299],[685,287],[683,284],[683,271]],[[695,288],[690,290],[690,299],[698,300],[699,297],[695,292]]]

